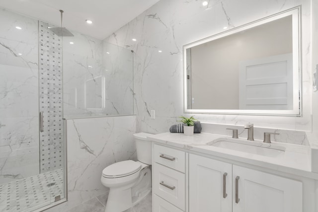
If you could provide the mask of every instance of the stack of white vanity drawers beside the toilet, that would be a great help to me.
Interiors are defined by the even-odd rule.
[[[186,152],[154,144],[154,212],[184,212],[186,209]]]

